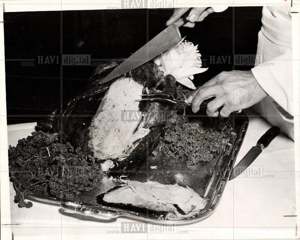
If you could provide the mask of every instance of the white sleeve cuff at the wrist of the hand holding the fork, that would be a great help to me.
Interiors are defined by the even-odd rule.
[[[293,115],[292,49],[251,71],[262,89]]]

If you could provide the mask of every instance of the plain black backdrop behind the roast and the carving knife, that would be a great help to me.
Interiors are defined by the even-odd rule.
[[[198,44],[208,66],[206,72],[195,75],[196,86],[233,70],[233,54],[256,53],[261,11],[262,7],[230,7],[196,22],[194,28],[180,28],[182,37]],[[91,54],[92,59],[127,58],[161,32],[172,14],[173,9],[4,13],[7,124],[37,121],[60,108],[61,102],[87,84],[95,69],[38,64],[38,56],[62,53]],[[210,56],[215,60],[231,56],[231,62],[213,64]],[[21,66],[22,59],[35,59],[35,66]]]

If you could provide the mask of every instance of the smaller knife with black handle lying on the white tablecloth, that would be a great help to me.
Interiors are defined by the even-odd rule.
[[[259,156],[262,150],[271,143],[280,133],[280,128],[272,126],[261,138],[257,141],[256,146],[253,146],[243,159],[233,168],[229,181],[240,175],[250,164]]]

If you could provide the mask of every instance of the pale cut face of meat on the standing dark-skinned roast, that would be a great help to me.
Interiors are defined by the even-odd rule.
[[[134,143],[149,133],[148,128],[139,126],[142,112],[139,102],[134,101],[141,99],[142,91],[143,85],[130,78],[110,85],[90,126],[89,147],[94,149],[96,158],[129,156],[137,145]]]

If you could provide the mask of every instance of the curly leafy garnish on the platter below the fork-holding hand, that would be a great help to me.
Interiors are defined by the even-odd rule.
[[[211,161],[215,152],[230,146],[232,120],[230,118],[189,119],[171,117],[164,127],[165,135],[159,148],[174,159],[186,158],[187,165]]]

